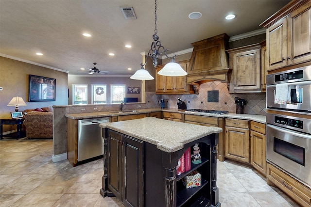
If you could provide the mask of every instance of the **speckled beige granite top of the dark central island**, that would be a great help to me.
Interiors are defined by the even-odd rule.
[[[155,144],[158,149],[168,153],[182,149],[186,143],[223,131],[220,127],[204,127],[155,117],[108,122],[99,126]]]

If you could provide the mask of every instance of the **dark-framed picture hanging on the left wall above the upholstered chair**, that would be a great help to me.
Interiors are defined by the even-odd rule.
[[[56,79],[29,75],[29,101],[55,101]]]

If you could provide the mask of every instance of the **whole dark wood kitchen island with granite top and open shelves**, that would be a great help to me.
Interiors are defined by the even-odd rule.
[[[220,127],[203,127],[154,117],[103,123],[104,175],[101,194],[125,206],[220,206],[216,185],[216,146]],[[176,175],[178,159],[199,143],[201,163]],[[196,171],[199,187],[183,178]]]

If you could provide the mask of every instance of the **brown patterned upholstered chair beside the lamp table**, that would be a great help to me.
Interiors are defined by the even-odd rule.
[[[26,137],[31,138],[53,138],[53,113],[52,108],[27,109],[24,111]]]

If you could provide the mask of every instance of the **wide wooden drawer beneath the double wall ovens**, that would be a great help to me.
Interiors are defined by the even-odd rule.
[[[267,179],[274,183],[279,189],[291,196],[302,206],[311,205],[311,189],[304,186],[293,177],[280,171],[270,163],[268,164]]]

